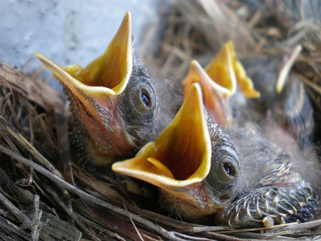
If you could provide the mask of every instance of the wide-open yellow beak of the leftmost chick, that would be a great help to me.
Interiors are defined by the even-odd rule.
[[[36,52],[35,55],[73,93],[118,95],[125,89],[132,72],[132,18],[126,12],[105,53],[87,67],[61,67]]]

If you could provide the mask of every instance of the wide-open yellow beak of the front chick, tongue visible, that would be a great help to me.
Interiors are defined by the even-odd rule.
[[[156,141],[147,143],[129,160],[112,170],[138,178],[170,192],[201,182],[211,166],[211,141],[204,116],[201,88],[192,84],[174,120]]]

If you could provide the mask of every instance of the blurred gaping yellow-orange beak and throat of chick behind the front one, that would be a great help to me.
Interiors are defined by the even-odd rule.
[[[260,96],[238,61],[232,41],[225,43],[204,69],[196,60],[192,60],[189,73],[183,80],[184,98],[193,83],[200,84],[206,109],[211,119],[221,126],[231,125],[232,113],[228,98],[237,89],[246,98]]]

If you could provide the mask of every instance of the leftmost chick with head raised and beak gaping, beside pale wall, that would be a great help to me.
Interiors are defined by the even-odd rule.
[[[72,143],[80,161],[111,164],[144,144],[153,127],[156,94],[135,52],[130,12],[105,53],[87,67],[60,67],[35,53],[64,85],[74,116]]]

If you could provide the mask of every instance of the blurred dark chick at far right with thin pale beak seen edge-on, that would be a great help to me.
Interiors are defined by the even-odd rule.
[[[270,115],[305,147],[313,141],[314,111],[304,84],[290,74],[301,50],[298,45],[274,58],[249,57],[241,62],[261,93],[260,98],[248,101],[250,108],[261,116]]]

